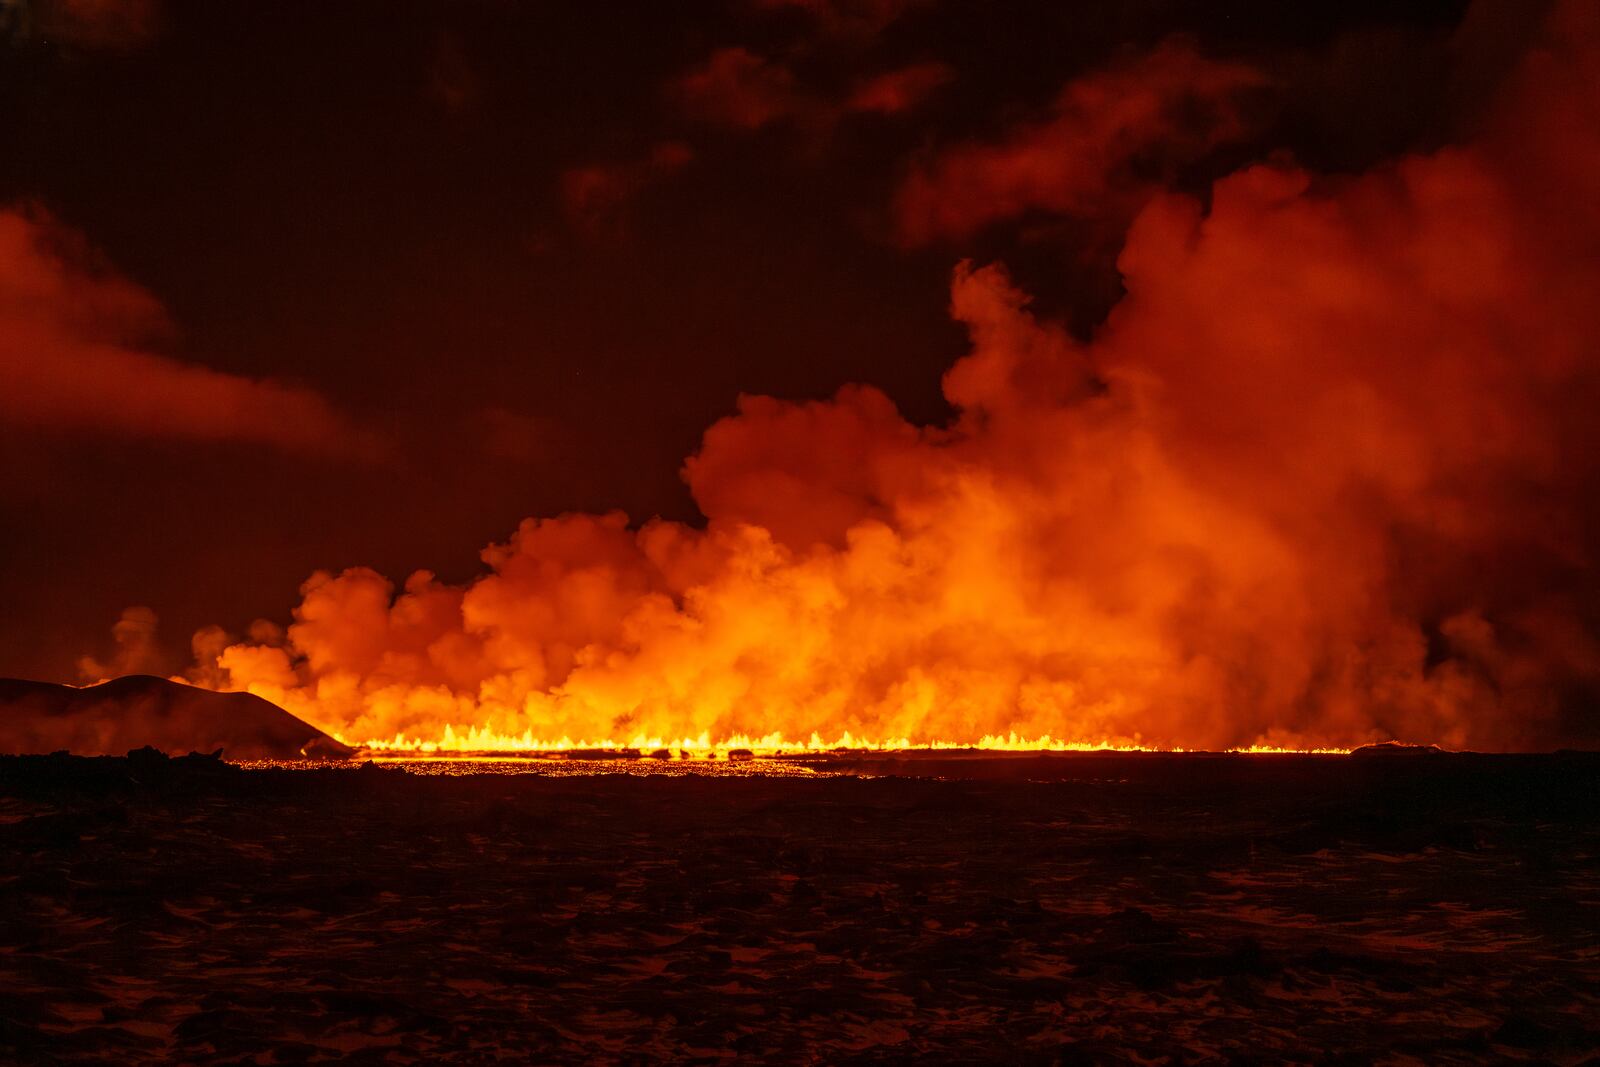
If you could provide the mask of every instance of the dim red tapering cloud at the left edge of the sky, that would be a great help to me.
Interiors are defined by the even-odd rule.
[[[48,214],[0,210],[0,421],[96,434],[246,440],[371,454],[315,392],[152,352],[157,301]]]

